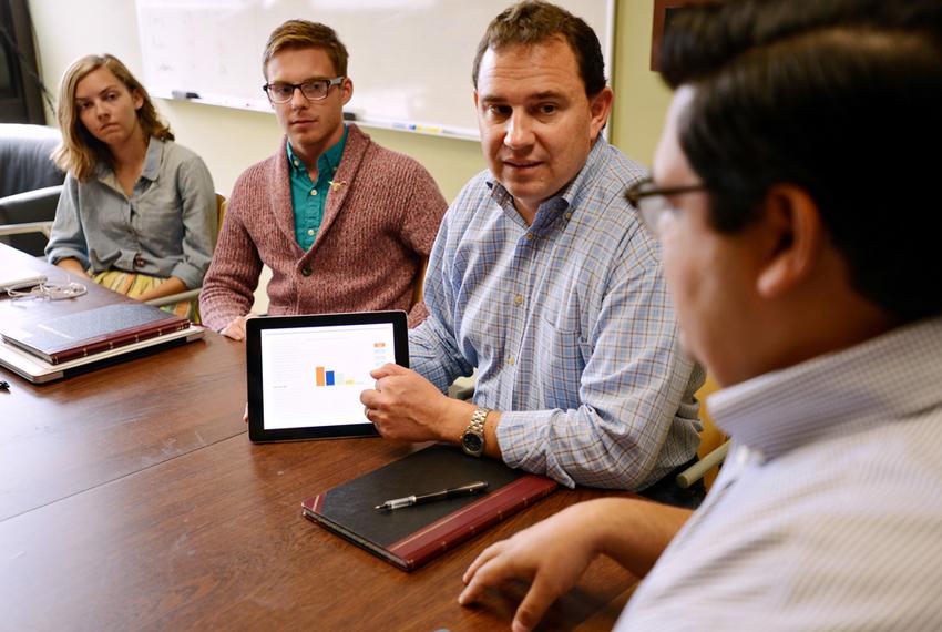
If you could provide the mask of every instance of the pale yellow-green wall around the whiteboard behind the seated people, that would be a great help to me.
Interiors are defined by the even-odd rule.
[[[654,0],[617,0],[612,77],[616,91],[612,142],[644,164],[651,162],[669,99],[657,75],[647,70],[653,4]],[[141,74],[137,16],[131,0],[30,0],[29,6],[41,74],[53,92],[65,68],[92,52],[115,54],[132,72]],[[468,98],[471,99],[470,86]],[[216,188],[226,194],[238,174],[269,155],[280,137],[272,114],[171,100],[156,100],[156,104],[177,140],[203,156]],[[389,130],[367,131],[380,144],[424,164],[448,200],[484,167],[475,142]]]

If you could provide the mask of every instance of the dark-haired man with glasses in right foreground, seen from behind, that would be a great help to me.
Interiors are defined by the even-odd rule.
[[[940,630],[942,2],[689,11],[628,197],[729,457],[693,513],[602,499],[499,542],[459,601],[532,580],[530,630],[604,554],[644,578],[616,630]]]

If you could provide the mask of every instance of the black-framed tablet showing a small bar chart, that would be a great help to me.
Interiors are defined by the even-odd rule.
[[[246,355],[252,441],[373,437],[360,394],[375,368],[409,366],[406,313],[250,318]]]

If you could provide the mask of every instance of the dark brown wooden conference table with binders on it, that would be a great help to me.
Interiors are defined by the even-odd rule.
[[[0,245],[0,265],[29,261]],[[0,323],[126,300],[0,298]],[[58,383],[0,368],[0,630],[509,628],[524,584],[457,603],[487,546],[602,492],[560,490],[405,573],[301,517],[407,455],[383,439],[248,441],[240,343],[212,332]],[[611,628],[635,580],[597,560],[543,629]]]

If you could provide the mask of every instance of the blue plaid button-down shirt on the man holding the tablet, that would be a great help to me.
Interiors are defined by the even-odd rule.
[[[442,390],[478,367],[474,399],[503,411],[511,467],[642,489],[694,456],[702,371],[679,350],[659,251],[623,196],[643,175],[600,139],[532,226],[484,172],[439,230],[410,361]]]

